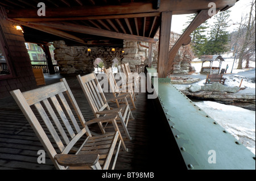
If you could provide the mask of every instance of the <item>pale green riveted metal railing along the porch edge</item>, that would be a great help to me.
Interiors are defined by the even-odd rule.
[[[147,72],[156,70],[147,68]],[[255,170],[255,155],[177,90],[170,79],[158,78],[157,85],[152,84],[158,94],[154,100],[161,117],[158,124],[169,128],[177,145],[171,149],[179,149],[187,169]],[[172,143],[166,148],[168,144]]]

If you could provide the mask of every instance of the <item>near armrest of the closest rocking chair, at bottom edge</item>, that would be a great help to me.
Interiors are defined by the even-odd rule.
[[[93,166],[100,159],[99,154],[56,154],[54,159],[61,166]]]

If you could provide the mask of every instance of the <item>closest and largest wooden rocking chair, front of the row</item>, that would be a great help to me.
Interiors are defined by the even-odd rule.
[[[126,150],[115,121],[117,115],[85,122],[65,79],[23,93],[14,90],[11,95],[56,169],[109,169],[111,165],[114,169],[120,145]],[[106,121],[112,121],[115,132],[92,136],[88,125]],[[110,164],[115,151],[114,162]]]

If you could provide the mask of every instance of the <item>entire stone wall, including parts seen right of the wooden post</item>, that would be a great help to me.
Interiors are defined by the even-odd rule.
[[[158,39],[158,34],[155,38]],[[179,39],[178,33],[171,32],[170,49]],[[115,64],[129,62],[131,71],[138,71],[138,65],[148,64],[148,43],[139,41],[123,40],[123,48],[115,48],[112,52],[111,47],[68,47],[64,41],[55,41],[55,60],[60,68],[61,74],[90,73],[94,70],[93,62],[96,58],[101,58],[105,68]],[[90,48],[91,52],[87,49]],[[124,53],[122,53],[124,51]],[[158,66],[158,42],[153,44],[152,67]],[[172,74],[188,74],[191,71],[192,51],[189,45],[179,49],[172,69]]]

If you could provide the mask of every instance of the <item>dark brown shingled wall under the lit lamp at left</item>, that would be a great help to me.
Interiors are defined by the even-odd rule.
[[[0,33],[2,33],[4,40],[1,43],[8,50],[6,60],[9,62],[11,74],[7,78],[5,75],[0,75],[0,99],[10,96],[11,90],[27,91],[36,87],[23,33],[16,30],[14,23],[5,20],[1,13]]]

